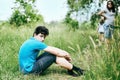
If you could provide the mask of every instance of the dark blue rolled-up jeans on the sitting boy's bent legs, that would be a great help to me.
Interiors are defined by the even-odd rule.
[[[40,74],[54,62],[56,62],[56,56],[48,52],[44,52],[37,58],[31,73]]]

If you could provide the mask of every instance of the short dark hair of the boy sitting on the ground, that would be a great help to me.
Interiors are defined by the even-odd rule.
[[[36,27],[34,34],[38,35],[39,33],[44,34],[45,36],[49,35],[49,30],[45,26],[38,26]]]

